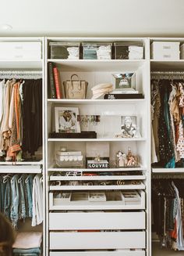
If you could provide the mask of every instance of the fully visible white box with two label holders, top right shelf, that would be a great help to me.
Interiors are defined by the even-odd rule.
[[[154,41],[150,45],[151,58],[159,60],[179,59],[179,41]]]

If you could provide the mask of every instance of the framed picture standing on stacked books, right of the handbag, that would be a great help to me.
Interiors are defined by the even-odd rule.
[[[115,90],[134,91],[136,89],[135,73],[113,74],[113,77],[115,79]]]

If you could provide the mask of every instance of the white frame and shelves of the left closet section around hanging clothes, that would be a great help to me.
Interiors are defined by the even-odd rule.
[[[41,42],[41,59],[22,59],[21,56],[17,56],[18,59],[1,59],[0,58],[0,78],[3,78],[3,74],[12,74],[12,78],[16,78],[16,75],[20,77],[20,74],[29,74],[34,72],[39,74],[39,78],[42,78],[42,147],[39,149],[39,156],[41,160],[37,161],[16,161],[16,162],[5,162],[0,161],[0,174],[42,174],[43,175],[43,197],[45,195],[45,164],[44,164],[44,38],[42,37],[12,37],[5,38],[1,37],[0,42],[16,42],[19,43],[18,51],[23,48],[22,43],[24,42]],[[31,47],[31,46],[30,46]],[[20,50],[19,50],[20,49]],[[32,51],[32,49],[30,49]],[[21,53],[22,54],[22,53]],[[7,78],[7,77],[6,77]],[[43,212],[45,209],[45,201],[43,201]],[[43,233],[43,255],[45,251],[45,216],[44,221],[41,225],[32,227],[30,219],[26,219],[23,224],[18,225],[18,231],[40,231]]]

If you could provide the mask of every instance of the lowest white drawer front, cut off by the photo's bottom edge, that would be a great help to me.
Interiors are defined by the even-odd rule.
[[[145,256],[145,251],[51,251],[50,256]]]

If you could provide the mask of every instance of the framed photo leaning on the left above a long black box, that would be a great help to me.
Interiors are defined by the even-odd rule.
[[[80,132],[78,107],[55,106],[55,132]]]

